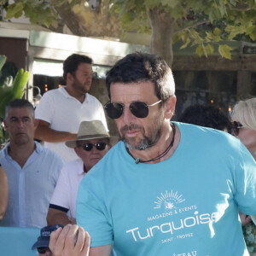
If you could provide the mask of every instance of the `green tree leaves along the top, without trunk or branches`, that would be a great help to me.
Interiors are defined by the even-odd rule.
[[[16,0],[7,8],[7,19],[24,14],[31,23],[55,25],[58,15],[55,7],[85,0]],[[174,22],[173,44],[181,41],[182,49],[199,46],[199,55],[209,55],[214,45],[224,40],[256,40],[255,0],[109,0],[109,10],[119,15],[124,32],[151,33],[148,11],[170,15]],[[212,45],[211,47],[209,45]],[[230,58],[229,47],[218,49],[220,55]]]

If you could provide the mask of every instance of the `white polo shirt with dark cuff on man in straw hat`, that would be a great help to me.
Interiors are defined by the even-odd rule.
[[[54,194],[49,201],[49,208],[62,212],[69,210],[70,217],[76,218],[79,184],[84,175],[84,162],[81,159],[67,162],[61,170]]]

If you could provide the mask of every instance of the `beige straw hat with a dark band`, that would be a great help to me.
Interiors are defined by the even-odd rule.
[[[75,141],[67,141],[65,144],[68,148],[77,147],[78,141],[88,141],[98,138],[109,138],[110,144],[118,142],[118,137],[109,136],[108,131],[100,120],[83,121],[79,126],[78,137]]]

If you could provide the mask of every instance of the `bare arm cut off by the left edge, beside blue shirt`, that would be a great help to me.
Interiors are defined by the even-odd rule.
[[[3,167],[0,166],[0,221],[8,206],[8,180]]]

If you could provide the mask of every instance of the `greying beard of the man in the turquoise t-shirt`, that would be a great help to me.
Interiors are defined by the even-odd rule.
[[[132,131],[134,129],[141,131],[143,137],[125,137],[125,131]],[[160,123],[159,120],[156,120],[153,125],[150,125],[150,128],[148,129],[148,136],[146,136],[145,133],[143,126],[134,124],[125,125],[120,129],[120,137],[125,143],[126,148],[144,150],[146,148],[151,148],[159,141],[162,133],[162,123]]]

